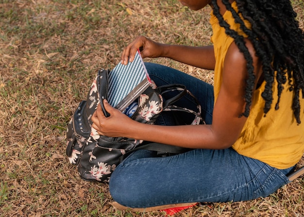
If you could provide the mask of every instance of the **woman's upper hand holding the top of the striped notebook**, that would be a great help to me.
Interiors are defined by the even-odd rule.
[[[132,62],[138,49],[142,58],[156,58],[162,55],[162,44],[156,43],[144,36],[138,36],[123,50],[121,63],[127,65],[128,61]]]

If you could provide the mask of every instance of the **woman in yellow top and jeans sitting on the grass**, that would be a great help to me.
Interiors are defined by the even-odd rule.
[[[213,9],[213,46],[156,43],[139,36],[122,53],[133,61],[168,57],[214,70],[214,86],[178,70],[147,63],[160,86],[183,83],[200,101],[206,125],[138,123],[105,103],[93,127],[103,135],[192,148],[158,157],[138,150],[113,172],[115,201],[144,208],[176,203],[225,202],[267,197],[288,183],[304,153],[304,32],[289,0],[180,0]],[[195,103],[185,99],[181,105]],[[127,128],[125,126],[128,126]],[[136,209],[135,209],[136,211]]]

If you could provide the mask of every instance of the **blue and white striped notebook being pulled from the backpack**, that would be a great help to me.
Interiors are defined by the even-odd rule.
[[[108,102],[123,111],[150,84],[149,74],[138,50],[132,63],[119,63],[109,73]]]

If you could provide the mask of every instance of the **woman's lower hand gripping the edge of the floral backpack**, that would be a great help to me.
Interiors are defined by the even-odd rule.
[[[107,100],[103,100],[103,103],[104,108],[110,114],[110,117],[105,117],[101,110],[101,105],[98,105],[92,116],[92,127],[101,135],[109,137],[126,137],[126,128],[131,127],[134,120],[121,113],[118,109],[113,108]]]

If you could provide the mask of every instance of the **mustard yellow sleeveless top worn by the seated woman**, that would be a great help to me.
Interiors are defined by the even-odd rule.
[[[237,11],[236,2],[232,5]],[[246,36],[239,24],[234,22],[231,12],[226,11],[223,18],[230,24],[230,28]],[[222,71],[227,50],[234,39],[220,27],[218,19],[211,12],[210,23],[213,29],[211,38],[214,44],[216,66],[214,71],[214,97],[215,101],[220,92]],[[245,25],[250,27],[250,23]],[[304,100],[300,94],[301,124],[297,124],[291,108],[293,93],[289,92],[287,84],[280,99],[280,108],[274,109],[277,102],[277,84],[273,85],[273,102],[270,111],[264,117],[264,100],[261,94],[265,82],[254,91],[253,104],[245,126],[232,146],[239,154],[258,159],[271,167],[286,169],[294,166],[304,153]]]

